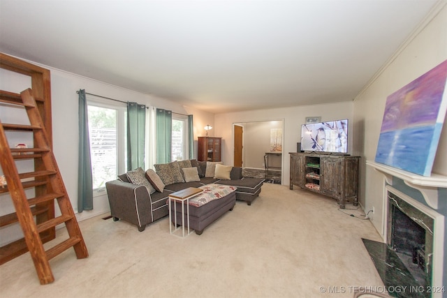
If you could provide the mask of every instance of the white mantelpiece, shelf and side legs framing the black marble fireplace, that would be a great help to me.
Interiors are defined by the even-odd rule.
[[[444,217],[442,214],[437,212],[439,209],[439,200],[446,200],[446,198],[441,198],[438,192],[438,188],[447,188],[447,177],[439,174],[432,174],[430,177],[420,176],[418,174],[413,174],[406,172],[395,167],[389,167],[388,165],[383,165],[381,163],[374,163],[367,161],[367,165],[374,168],[378,172],[381,172],[384,176],[384,187],[383,187],[383,210],[386,214],[383,216],[383,226],[385,228],[385,239],[386,244],[390,244],[390,227],[388,227],[388,205],[389,205],[389,193],[397,195],[398,198],[402,199],[405,203],[411,205],[411,207],[422,212],[426,216],[433,219],[433,255],[432,255],[432,285],[443,285],[443,271],[444,271]],[[393,177],[402,179],[407,186],[415,188],[420,191],[423,195],[426,204],[418,202],[409,195],[406,195],[397,189],[393,188]],[[413,218],[418,221],[417,218]],[[386,283],[386,281],[383,281]],[[437,293],[433,293],[432,297],[438,297]],[[440,293],[438,293],[440,294]],[[441,295],[439,295],[441,297]]]

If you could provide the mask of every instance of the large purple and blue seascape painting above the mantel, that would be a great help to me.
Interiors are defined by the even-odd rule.
[[[386,100],[377,163],[430,176],[447,110],[447,60]]]

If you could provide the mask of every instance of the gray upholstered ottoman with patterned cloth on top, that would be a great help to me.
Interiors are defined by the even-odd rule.
[[[202,234],[208,225],[221,217],[226,211],[233,210],[236,204],[236,187],[225,186],[220,184],[207,184],[200,186],[203,193],[189,199],[189,228],[196,231],[196,234]],[[177,205],[171,204],[171,221],[177,225],[182,223],[182,203],[175,202]],[[176,212],[174,211],[176,209]],[[184,208],[186,216],[186,207]],[[174,217],[175,216],[175,217]],[[185,219],[186,225],[186,219]]]

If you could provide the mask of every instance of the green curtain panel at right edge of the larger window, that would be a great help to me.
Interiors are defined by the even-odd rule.
[[[145,169],[146,106],[127,103],[127,170]]]

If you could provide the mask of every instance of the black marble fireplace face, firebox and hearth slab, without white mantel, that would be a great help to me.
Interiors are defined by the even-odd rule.
[[[435,223],[444,225],[444,216],[424,207],[392,186],[386,186],[386,243],[363,239],[386,288],[430,289],[434,285],[436,258]],[[441,262],[442,264],[442,262]],[[390,291],[393,297],[431,297],[427,291]],[[409,295],[411,294],[411,295]]]

